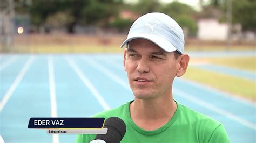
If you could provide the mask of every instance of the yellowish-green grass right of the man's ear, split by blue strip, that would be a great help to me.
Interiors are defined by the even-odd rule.
[[[256,71],[256,56],[196,59],[196,61],[200,60],[207,63],[213,63],[214,65],[241,69],[253,73]],[[189,67],[185,77],[190,80],[206,84],[210,87],[214,87],[218,90],[245,97],[254,102],[256,101],[255,81],[250,81],[244,78],[234,77],[232,75],[221,74],[213,71],[206,71],[195,67]]]

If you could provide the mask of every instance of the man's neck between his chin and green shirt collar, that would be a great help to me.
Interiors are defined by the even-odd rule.
[[[135,98],[130,104],[130,115],[144,130],[156,130],[171,120],[176,109],[172,96],[147,100]]]

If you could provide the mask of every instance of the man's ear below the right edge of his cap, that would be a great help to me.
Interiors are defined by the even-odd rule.
[[[188,62],[190,61],[190,56],[188,54],[182,54],[177,60],[179,60],[179,68],[176,76],[180,77],[186,73]]]

